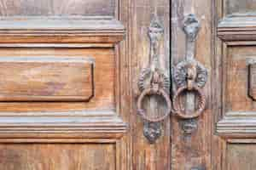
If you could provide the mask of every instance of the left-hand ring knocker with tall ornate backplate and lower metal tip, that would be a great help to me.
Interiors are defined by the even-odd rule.
[[[170,80],[160,70],[159,66],[159,48],[160,38],[164,35],[164,27],[160,24],[157,17],[152,20],[148,27],[148,37],[150,40],[150,62],[149,66],[140,74],[138,87],[141,91],[137,99],[137,113],[142,116],[144,121],[143,133],[149,143],[153,144],[160,137],[160,122],[164,121],[172,112],[172,101],[170,99]],[[166,102],[167,109],[164,116],[150,117],[147,116],[143,109],[143,100],[146,97],[160,96]]]

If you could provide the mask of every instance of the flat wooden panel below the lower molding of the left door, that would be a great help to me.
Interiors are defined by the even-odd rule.
[[[0,144],[0,156],[2,170],[116,169],[114,144]]]

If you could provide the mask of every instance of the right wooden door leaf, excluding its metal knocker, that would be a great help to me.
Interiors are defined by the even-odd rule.
[[[173,94],[179,88],[176,65],[191,50],[183,29],[188,16],[199,21],[192,51],[208,77],[201,116],[172,116],[171,169],[255,169],[255,10],[255,1],[247,0],[172,1]],[[199,107],[195,93],[184,98],[186,109]]]

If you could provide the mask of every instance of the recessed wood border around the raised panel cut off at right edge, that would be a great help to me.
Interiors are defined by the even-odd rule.
[[[225,112],[255,111],[255,102],[248,96],[247,59],[255,59],[255,47],[229,46],[225,56]]]

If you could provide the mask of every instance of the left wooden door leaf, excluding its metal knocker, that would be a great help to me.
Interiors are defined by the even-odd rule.
[[[149,28],[161,30],[157,51],[170,82],[169,7],[1,0],[0,169],[170,169],[170,117],[149,144],[136,106],[153,47]],[[165,111],[157,108],[153,114]]]

